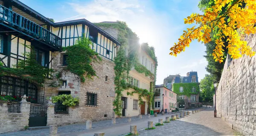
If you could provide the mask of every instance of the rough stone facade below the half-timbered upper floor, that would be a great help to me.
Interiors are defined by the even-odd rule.
[[[54,54],[55,59],[52,60],[52,63],[53,69],[56,71],[55,74],[65,67],[62,66],[63,54],[59,52]],[[51,125],[51,122],[55,122],[55,125],[84,123],[87,120],[105,120],[114,116],[114,62],[102,57],[102,61],[93,62],[92,66],[97,77],[86,79],[85,83],[81,83],[80,79],[77,79],[77,76],[71,72],[62,72],[61,79],[67,81],[66,87],[45,87],[45,98],[58,95],[58,92],[69,91],[73,97],[79,97],[79,105],[75,108],[68,108],[68,114],[54,114],[54,108],[48,107],[47,125]],[[97,94],[97,106],[86,105],[87,92]]]

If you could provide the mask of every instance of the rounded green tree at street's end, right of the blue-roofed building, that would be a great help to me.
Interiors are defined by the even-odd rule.
[[[205,75],[205,77],[200,82],[201,93],[203,102],[213,102],[213,95],[215,93],[215,89],[213,86],[214,78],[212,75]]]

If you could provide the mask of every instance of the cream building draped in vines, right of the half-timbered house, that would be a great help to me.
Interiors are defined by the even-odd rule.
[[[119,22],[100,22],[103,24],[118,24]],[[97,23],[96,23],[97,24]],[[118,38],[118,35],[120,31],[115,28],[115,27],[102,27],[102,30],[108,32],[113,36],[114,38]],[[128,28],[130,29],[130,28]],[[136,34],[134,34],[134,37],[137,37]],[[156,62],[154,59],[148,54],[148,52],[143,48],[144,45],[141,45],[136,42],[129,42],[128,47],[126,47],[126,55],[128,56],[129,48],[132,47],[134,48],[133,50],[137,50],[137,60],[140,65],[145,67],[151,74],[153,75],[152,77],[150,76],[145,76],[145,74],[138,72],[134,67],[131,68],[131,71],[129,72],[129,78],[130,80],[128,81],[131,85],[139,87],[141,89],[147,89],[148,91],[151,90],[150,84],[154,82],[154,72],[155,72],[155,65]],[[147,46],[147,45],[146,45]],[[153,90],[153,89],[152,89]],[[124,117],[131,117],[131,116],[138,116],[139,114],[144,114],[146,115],[148,111],[148,100],[146,100],[145,97],[142,97],[143,99],[143,105],[139,106],[139,96],[138,94],[133,94],[127,95],[127,92],[133,92],[134,89],[128,89],[122,92],[122,116]]]

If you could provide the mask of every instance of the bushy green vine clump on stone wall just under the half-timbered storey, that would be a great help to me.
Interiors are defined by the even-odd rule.
[[[101,61],[98,53],[91,49],[90,44],[92,44],[92,42],[88,38],[82,36],[73,46],[63,47],[63,51],[66,51],[67,55],[67,67],[63,70],[78,75],[81,82],[85,82],[85,78],[90,79],[92,76],[96,76],[96,72],[92,67],[92,62]],[[56,76],[60,75],[61,72]]]

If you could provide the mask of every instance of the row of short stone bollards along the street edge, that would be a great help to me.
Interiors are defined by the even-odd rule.
[[[204,109],[196,109],[192,111],[192,114],[195,114],[199,111],[202,111]],[[176,114],[176,115],[172,115],[172,120],[177,119],[178,117],[182,118],[184,116],[188,116],[190,114],[189,111],[185,111],[182,112],[180,114]],[[157,117],[157,114],[154,114],[154,117]],[[140,119],[142,119],[142,116],[139,116]],[[150,118],[150,114],[148,114],[148,118]],[[166,122],[170,121],[170,117],[166,117]],[[116,124],[116,119],[112,118],[111,120],[112,124]],[[128,122],[131,122],[131,117],[128,117]],[[158,122],[163,125],[163,119],[158,119]],[[91,129],[92,128],[92,122],[91,121],[86,121],[86,129]],[[148,128],[153,128],[153,122],[152,121],[148,121]],[[59,136],[59,134],[57,134],[57,130],[58,130],[58,126],[57,125],[50,125],[49,126],[49,136]],[[137,125],[130,125],[130,133],[137,135]],[[104,132],[98,132],[98,133],[94,133],[94,136],[104,136],[105,133]]]

